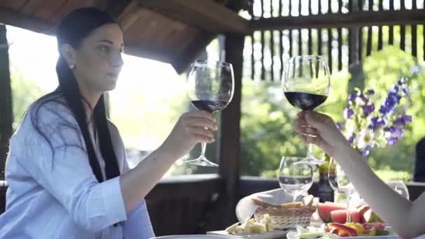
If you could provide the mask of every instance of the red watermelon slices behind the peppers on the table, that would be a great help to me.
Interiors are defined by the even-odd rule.
[[[336,203],[317,203],[317,212],[324,222],[344,224],[347,219],[347,208]],[[384,222],[368,205],[351,210],[352,222]]]

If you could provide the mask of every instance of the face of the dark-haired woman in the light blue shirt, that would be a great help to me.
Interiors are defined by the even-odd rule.
[[[105,24],[92,31],[80,48],[73,50],[73,69],[80,87],[89,92],[115,89],[122,65],[122,30],[117,24]]]

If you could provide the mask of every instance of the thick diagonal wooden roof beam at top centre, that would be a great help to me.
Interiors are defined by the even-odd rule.
[[[215,34],[247,34],[247,21],[229,8],[212,0],[138,0],[145,8],[156,10],[180,22]]]

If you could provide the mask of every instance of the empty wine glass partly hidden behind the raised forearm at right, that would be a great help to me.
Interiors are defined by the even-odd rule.
[[[352,222],[350,200],[356,189],[354,189],[354,185],[347,178],[347,175],[345,175],[343,168],[333,159],[329,162],[328,179],[332,189],[338,191],[340,194],[344,194],[345,198],[347,198],[347,222]]]

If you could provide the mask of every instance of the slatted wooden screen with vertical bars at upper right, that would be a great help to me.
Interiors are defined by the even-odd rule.
[[[316,9],[313,3],[317,4]],[[338,7],[329,8],[332,3]],[[394,3],[399,7],[395,8]],[[405,5],[404,0],[389,0],[386,6],[383,1],[373,0],[254,0],[249,23],[252,34],[248,40],[251,57],[245,59],[245,67],[250,69],[245,70],[245,75],[250,72],[252,79],[280,80],[285,60],[312,54],[326,56],[331,72],[341,71],[386,44],[396,44],[394,39],[400,39],[401,50],[418,57],[418,48],[423,44],[417,41],[418,26],[424,28],[425,14],[416,1],[412,1],[409,9]],[[387,39],[383,29],[388,29]]]

